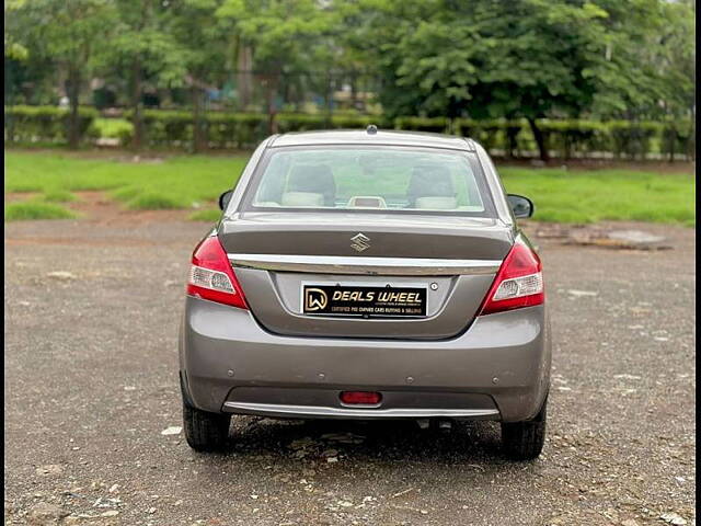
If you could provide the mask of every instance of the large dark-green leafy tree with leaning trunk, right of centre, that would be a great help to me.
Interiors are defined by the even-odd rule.
[[[368,52],[389,77],[381,101],[392,114],[526,117],[547,159],[536,119],[578,115],[591,102],[587,70],[601,60],[600,21],[607,16],[591,3],[370,4],[378,15],[366,41],[379,44]]]

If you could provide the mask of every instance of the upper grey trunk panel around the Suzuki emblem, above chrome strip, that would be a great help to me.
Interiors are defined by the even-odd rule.
[[[350,249],[363,232],[370,248]],[[503,260],[514,231],[490,218],[401,214],[250,213],[222,221],[228,253]]]

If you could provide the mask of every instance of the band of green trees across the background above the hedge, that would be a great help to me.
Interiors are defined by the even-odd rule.
[[[73,147],[81,104],[126,110],[137,149],[148,107],[187,112],[196,151],[215,110],[263,114],[267,133],[290,112],[522,119],[543,159],[544,119],[696,133],[693,0],[8,0],[4,15],[5,106],[67,96]]]

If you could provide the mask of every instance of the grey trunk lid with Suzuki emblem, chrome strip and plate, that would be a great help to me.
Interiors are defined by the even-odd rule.
[[[219,239],[253,316],[271,332],[441,339],[470,325],[514,232],[491,218],[245,213],[222,221]],[[423,294],[423,311],[311,315],[306,287]]]

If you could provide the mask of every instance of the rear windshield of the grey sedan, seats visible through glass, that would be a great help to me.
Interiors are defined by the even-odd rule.
[[[493,217],[482,171],[464,151],[403,147],[272,149],[249,210],[355,210]]]

